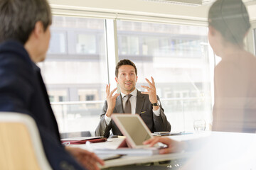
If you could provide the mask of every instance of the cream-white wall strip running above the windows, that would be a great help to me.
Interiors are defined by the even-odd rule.
[[[210,4],[182,6],[146,0],[48,0],[54,15],[112,18],[132,21],[153,21],[207,26]],[[245,1],[252,29],[256,28],[256,1]],[[246,38],[246,48],[255,54],[252,29]]]

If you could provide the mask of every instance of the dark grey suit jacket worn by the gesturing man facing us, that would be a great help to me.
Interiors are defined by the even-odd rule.
[[[159,97],[157,96],[158,100]],[[142,94],[140,91],[137,91],[137,102],[135,113],[139,114],[146,123],[147,127],[151,132],[159,131],[171,131],[171,125],[164,115],[164,109],[160,106],[160,115],[156,116],[153,111],[153,106],[149,101],[149,95]],[[117,125],[111,120],[110,124],[107,125],[105,122],[105,114],[107,112],[107,101],[103,106],[102,115],[100,115],[100,123],[95,130],[96,136],[110,136],[110,130],[112,129],[113,135],[122,135],[122,132],[117,128]],[[142,113],[144,112],[144,113]],[[117,96],[116,105],[114,107],[113,113],[124,113],[122,106],[122,96]]]

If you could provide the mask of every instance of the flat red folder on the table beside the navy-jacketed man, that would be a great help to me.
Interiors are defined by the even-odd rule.
[[[78,137],[63,139],[63,140],[61,140],[61,143],[69,142],[70,145],[80,145],[80,144],[85,144],[87,141],[92,142],[92,143],[107,141],[106,137],[88,137],[85,139],[82,139],[83,137],[80,137],[81,138],[80,140],[75,140],[76,138],[78,138]]]

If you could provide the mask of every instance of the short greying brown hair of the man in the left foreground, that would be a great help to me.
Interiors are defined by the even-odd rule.
[[[52,23],[47,0],[1,0],[0,1],[0,43],[18,40],[25,44],[41,21],[46,30]]]

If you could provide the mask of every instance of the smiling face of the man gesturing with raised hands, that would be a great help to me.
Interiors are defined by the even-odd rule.
[[[122,65],[119,67],[118,77],[115,78],[124,94],[129,94],[135,89],[137,79],[135,69],[131,65]]]

